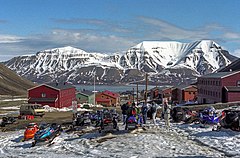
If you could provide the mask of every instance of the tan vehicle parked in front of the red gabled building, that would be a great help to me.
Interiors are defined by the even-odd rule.
[[[42,117],[45,109],[40,104],[23,104],[20,107],[20,115],[34,115]]]

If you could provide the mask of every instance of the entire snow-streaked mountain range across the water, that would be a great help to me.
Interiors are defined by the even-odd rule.
[[[125,53],[87,53],[73,47],[15,57],[4,64],[36,82],[129,83],[150,74],[155,84],[192,82],[230,64],[234,56],[211,40],[193,43],[144,41]]]

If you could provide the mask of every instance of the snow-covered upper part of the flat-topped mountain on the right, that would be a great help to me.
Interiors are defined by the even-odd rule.
[[[193,43],[142,42],[122,56],[120,65],[159,72],[166,68],[186,67],[205,74],[231,63],[221,46],[214,41]]]

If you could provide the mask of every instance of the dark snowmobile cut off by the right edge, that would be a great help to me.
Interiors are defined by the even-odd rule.
[[[223,110],[220,120],[220,128],[221,127],[240,131],[240,109]]]

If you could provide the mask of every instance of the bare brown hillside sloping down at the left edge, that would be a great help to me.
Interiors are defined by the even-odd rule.
[[[27,89],[33,86],[31,81],[21,78],[0,63],[0,95],[26,95]]]

